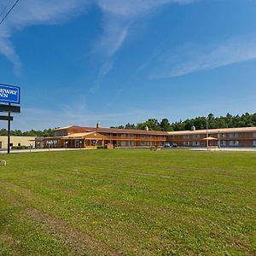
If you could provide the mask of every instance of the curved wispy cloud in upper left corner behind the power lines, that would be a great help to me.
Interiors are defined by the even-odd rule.
[[[36,24],[55,24],[69,20],[74,15],[79,15],[90,3],[86,0],[71,1],[44,1],[44,0],[23,0],[20,1],[8,19],[0,27],[0,53],[13,62],[15,70],[19,71],[21,61],[15,47],[11,43],[12,34],[26,26]],[[1,1],[0,9],[3,9],[5,1]]]

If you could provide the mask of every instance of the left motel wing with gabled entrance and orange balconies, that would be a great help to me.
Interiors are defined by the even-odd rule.
[[[123,148],[146,148],[166,143],[166,131],[125,130],[116,128],[67,126],[55,129],[52,137],[38,138],[38,148],[96,148],[113,145]]]

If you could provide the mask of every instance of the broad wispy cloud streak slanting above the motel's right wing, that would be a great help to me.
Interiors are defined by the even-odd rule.
[[[183,46],[156,58],[150,79],[183,76],[241,61],[256,60],[256,37],[231,38],[214,45]]]

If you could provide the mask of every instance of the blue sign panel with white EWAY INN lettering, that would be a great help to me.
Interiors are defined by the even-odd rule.
[[[0,102],[20,104],[20,87],[0,84]]]

